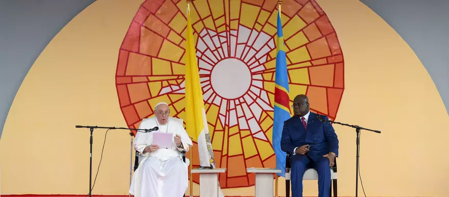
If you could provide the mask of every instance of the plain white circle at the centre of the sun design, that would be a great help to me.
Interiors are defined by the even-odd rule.
[[[236,99],[251,86],[251,71],[238,59],[228,58],[218,62],[211,73],[212,88],[225,99]]]

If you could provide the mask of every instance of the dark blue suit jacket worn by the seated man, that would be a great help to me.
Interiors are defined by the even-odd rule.
[[[321,122],[315,113],[310,112],[307,120],[307,130],[299,116],[293,116],[284,121],[282,130],[281,149],[293,155],[295,147],[311,145],[308,155],[312,160],[318,161],[323,155],[334,152],[338,156],[338,138],[330,122]],[[321,115],[328,120],[327,116]]]

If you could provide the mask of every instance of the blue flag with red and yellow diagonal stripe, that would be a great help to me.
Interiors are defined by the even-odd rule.
[[[285,152],[281,150],[281,135],[284,121],[290,118],[287,60],[285,55],[284,35],[282,33],[281,8],[278,10],[278,40],[276,55],[275,107],[273,120],[273,150],[276,154],[276,168],[281,169],[285,177]]]

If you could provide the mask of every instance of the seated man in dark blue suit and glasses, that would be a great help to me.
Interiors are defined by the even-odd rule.
[[[318,196],[329,197],[331,169],[338,155],[338,138],[329,122],[310,112],[309,99],[300,94],[293,100],[294,116],[284,122],[282,151],[289,153],[292,197],[303,196],[303,175],[308,168],[318,171]],[[327,116],[320,116],[328,119]]]

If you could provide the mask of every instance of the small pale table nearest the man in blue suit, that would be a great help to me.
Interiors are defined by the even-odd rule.
[[[273,196],[273,174],[281,173],[273,168],[246,168],[248,173],[256,174],[256,197]]]

